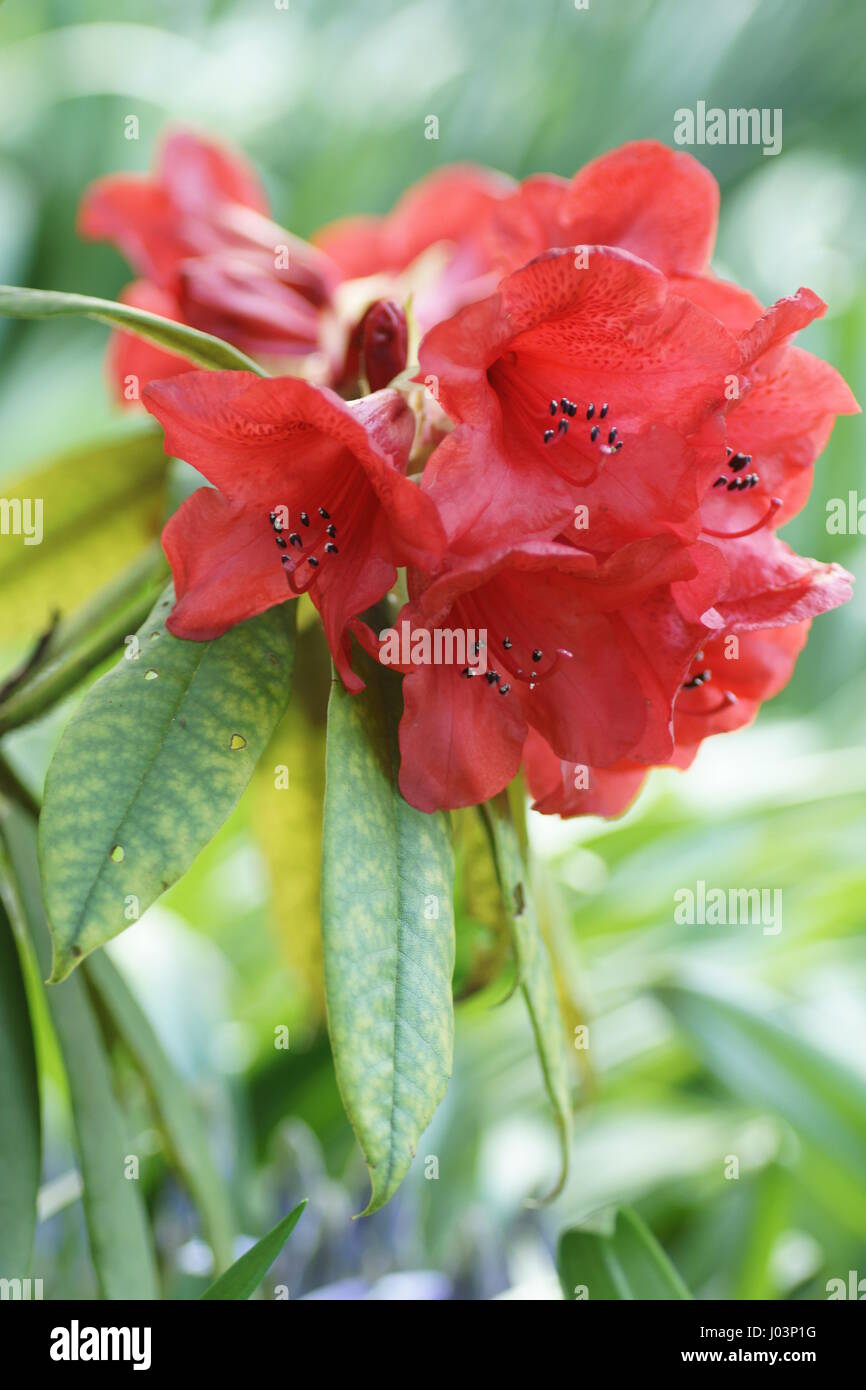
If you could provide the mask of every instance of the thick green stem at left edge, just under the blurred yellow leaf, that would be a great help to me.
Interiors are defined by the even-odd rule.
[[[44,714],[124,637],[142,626],[165,587],[168,566],[157,541],[57,626],[38,664],[0,706],[0,735]]]

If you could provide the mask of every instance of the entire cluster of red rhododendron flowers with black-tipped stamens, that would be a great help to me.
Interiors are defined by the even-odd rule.
[[[384,218],[292,239],[275,270],[288,234],[253,177],[190,136],[153,179],[97,185],[82,225],[147,277],[138,303],[265,360],[320,354],[329,316],[331,385],[373,389],[188,370],[147,386],[168,452],[214,485],[165,528],[171,630],[213,637],[309,591],[359,689],[350,634],[379,651],[361,614],[407,566],[413,641],[487,634],[463,664],[399,666],[400,785],[423,810],[484,801],[523,763],[539,810],[617,815],[648,767],[748,723],[849,598],[776,530],[858,406],[791,345],[824,311],[812,291],[765,310],[709,271],[717,203],[653,142],[571,179],[460,167]],[[409,291],[423,392],[386,389]],[[132,353],[145,379],[185,368],[129,339],[121,375]]]

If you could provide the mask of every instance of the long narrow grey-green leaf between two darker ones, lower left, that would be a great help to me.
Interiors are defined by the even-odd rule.
[[[24,812],[7,809],[3,833],[21,917],[44,973],[50,934],[39,891],[36,826]],[[83,976],[47,990],[46,995],[70,1087],[90,1257],[100,1291],[104,1298],[156,1298],[145,1204],[138,1182],[125,1176],[132,1150]]]

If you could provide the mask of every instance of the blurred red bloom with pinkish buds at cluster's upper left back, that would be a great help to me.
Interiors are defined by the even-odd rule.
[[[107,239],[143,277],[128,303],[279,360],[321,348],[321,316],[339,279],[321,252],[268,218],[256,175],[188,132],[170,136],[152,177],[113,174],[82,199],[79,231]],[[189,364],[143,356],[129,334],[113,346],[120,378],[174,375]],[[168,367],[168,370],[164,370]]]

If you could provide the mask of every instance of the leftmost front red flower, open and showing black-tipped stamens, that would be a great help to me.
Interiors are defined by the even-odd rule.
[[[200,488],[163,543],[177,637],[218,637],[309,592],[349,689],[349,621],[388,592],[398,564],[435,566],[442,528],[405,477],[414,418],[381,391],[345,402],[297,378],[190,371],[152,382],[145,404],[165,450],[196,467]]]

